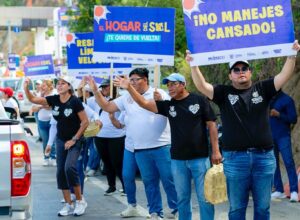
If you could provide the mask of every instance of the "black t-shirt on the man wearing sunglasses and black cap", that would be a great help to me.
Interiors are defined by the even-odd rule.
[[[257,82],[244,90],[225,85],[214,87],[213,102],[221,112],[223,149],[240,151],[247,148],[272,148],[269,103],[275,94],[273,78]]]

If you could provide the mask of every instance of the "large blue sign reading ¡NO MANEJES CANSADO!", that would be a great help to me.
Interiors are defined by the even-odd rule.
[[[288,0],[182,0],[195,65],[295,54]]]

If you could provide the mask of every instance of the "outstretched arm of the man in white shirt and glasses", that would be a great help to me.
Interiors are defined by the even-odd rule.
[[[103,111],[109,113],[114,113],[116,111],[119,111],[117,105],[112,101],[107,101],[105,97],[102,95],[102,93],[98,90],[96,82],[92,76],[87,76],[86,81],[94,93],[96,102],[103,109]]]

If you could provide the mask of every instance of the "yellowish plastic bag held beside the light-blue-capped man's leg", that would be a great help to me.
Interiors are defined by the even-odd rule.
[[[226,179],[222,163],[213,165],[206,172],[204,195],[206,200],[214,205],[227,201]]]

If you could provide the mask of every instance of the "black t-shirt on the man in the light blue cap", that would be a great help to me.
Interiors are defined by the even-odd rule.
[[[208,100],[189,94],[182,100],[156,102],[158,114],[169,118],[171,127],[171,157],[190,160],[208,156],[206,121],[216,116]]]

